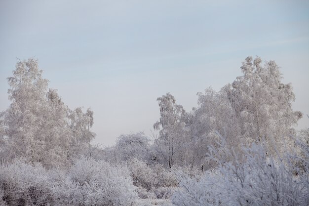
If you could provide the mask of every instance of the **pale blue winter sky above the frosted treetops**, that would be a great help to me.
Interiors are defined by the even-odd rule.
[[[36,58],[65,104],[94,111],[93,144],[151,136],[157,97],[190,112],[197,92],[241,76],[247,56],[275,60],[293,109],[309,114],[309,1],[0,1],[0,111],[17,58]]]

